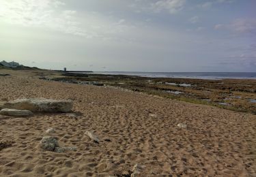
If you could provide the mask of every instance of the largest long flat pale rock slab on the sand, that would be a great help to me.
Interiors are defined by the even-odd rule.
[[[70,112],[72,106],[73,102],[70,100],[33,98],[8,101],[3,108],[30,110],[32,112]]]

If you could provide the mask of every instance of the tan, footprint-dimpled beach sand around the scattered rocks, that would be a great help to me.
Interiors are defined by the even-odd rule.
[[[145,165],[141,176],[256,176],[255,115],[104,86],[0,77],[0,101],[31,97],[72,99],[80,116],[0,116],[0,142],[12,142],[0,150],[0,176],[129,176],[137,163]],[[61,146],[77,150],[41,150],[50,127]]]

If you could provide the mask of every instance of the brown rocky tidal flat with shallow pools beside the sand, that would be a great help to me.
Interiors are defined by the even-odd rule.
[[[64,78],[53,80],[117,86],[149,95],[256,114],[256,83],[252,79],[147,78],[87,73],[81,76],[65,74]]]

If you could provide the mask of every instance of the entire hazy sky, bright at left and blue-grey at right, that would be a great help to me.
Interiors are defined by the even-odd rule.
[[[0,0],[0,61],[89,71],[256,71],[255,0]]]

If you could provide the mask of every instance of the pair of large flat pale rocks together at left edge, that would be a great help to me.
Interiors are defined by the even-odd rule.
[[[71,112],[73,102],[45,98],[16,99],[0,103],[0,114],[6,116],[31,116],[33,112]]]

